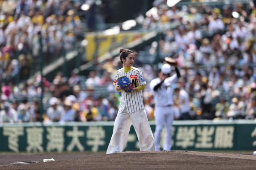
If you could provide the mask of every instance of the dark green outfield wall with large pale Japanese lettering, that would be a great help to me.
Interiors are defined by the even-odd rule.
[[[0,124],[0,151],[104,151],[111,139],[113,123]],[[154,133],[154,121],[150,121],[150,125]],[[163,140],[164,133],[161,147]],[[256,122],[174,121],[172,145],[172,150],[256,150]],[[139,150],[139,141],[133,127],[125,150]]]

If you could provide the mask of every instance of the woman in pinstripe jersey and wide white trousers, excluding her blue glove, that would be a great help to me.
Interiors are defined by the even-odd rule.
[[[133,67],[134,52],[120,49],[120,60],[123,68],[116,71],[113,85],[116,91],[122,91],[122,99],[113,128],[113,135],[108,145],[107,154],[122,152],[125,149],[131,123],[134,126],[140,143],[140,150],[154,150],[154,137],[144,110],[142,90],[145,88],[145,79],[139,68]],[[119,77],[126,76],[133,84],[131,93],[122,90],[116,83]]]

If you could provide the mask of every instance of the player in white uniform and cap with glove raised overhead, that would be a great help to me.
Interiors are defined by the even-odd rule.
[[[175,67],[176,74],[169,77],[172,68],[169,64],[163,64],[161,67],[158,78],[153,79],[150,83],[150,88],[154,96],[155,110],[154,118],[156,129],[154,132],[155,150],[160,150],[160,137],[163,126],[166,127],[165,141],[163,150],[171,150],[172,148],[172,121],[174,119],[174,108],[171,85],[176,83],[180,77],[180,72]]]

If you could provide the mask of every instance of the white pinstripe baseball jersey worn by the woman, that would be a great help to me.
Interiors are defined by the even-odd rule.
[[[130,81],[132,82],[133,88],[138,87],[139,85],[145,85],[145,79],[142,75],[142,72],[139,68],[132,67],[131,71],[128,73],[125,73],[124,68],[119,69],[116,71],[115,80],[113,82],[113,85],[116,86],[116,80],[119,77],[126,76]],[[132,91],[131,93],[127,93],[122,90],[122,98],[119,106],[118,112],[123,112],[125,109],[125,106],[127,107],[128,113],[139,111],[140,109],[144,108],[143,105],[143,98],[142,98],[142,90],[140,91]]]

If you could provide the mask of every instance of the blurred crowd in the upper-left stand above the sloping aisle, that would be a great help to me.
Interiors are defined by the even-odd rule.
[[[0,81],[20,70],[20,79],[39,58],[42,34],[44,62],[70,51],[81,38],[78,0],[0,0]]]

